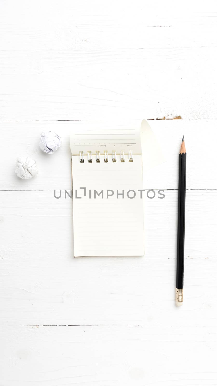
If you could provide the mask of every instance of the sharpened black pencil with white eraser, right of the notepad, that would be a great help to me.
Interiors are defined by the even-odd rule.
[[[176,306],[183,304],[183,276],[185,249],[185,186],[186,186],[186,149],[184,135],[179,154],[178,177],[178,233],[177,233],[177,267],[176,267]]]

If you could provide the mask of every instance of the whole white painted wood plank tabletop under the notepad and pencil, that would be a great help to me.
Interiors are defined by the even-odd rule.
[[[0,386],[217,385],[216,2],[0,1]],[[168,120],[181,116],[182,120]],[[73,258],[75,120],[147,118],[145,257]],[[166,117],[166,120],[156,120]],[[38,147],[42,130],[63,144]],[[177,167],[188,154],[184,304]],[[39,176],[15,176],[29,154]]]

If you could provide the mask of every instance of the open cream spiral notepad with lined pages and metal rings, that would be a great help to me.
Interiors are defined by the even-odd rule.
[[[70,146],[75,257],[143,256],[140,125],[79,123]]]

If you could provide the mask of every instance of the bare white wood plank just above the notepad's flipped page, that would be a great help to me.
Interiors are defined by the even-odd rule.
[[[162,48],[6,51],[0,119],[216,119],[217,48]]]

